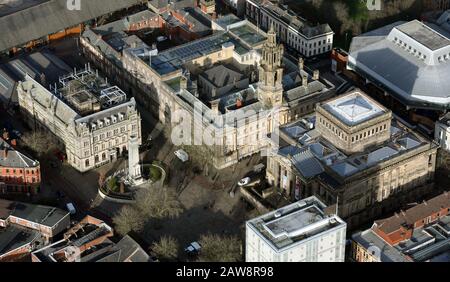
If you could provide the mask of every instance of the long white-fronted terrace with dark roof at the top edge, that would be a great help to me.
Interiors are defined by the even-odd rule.
[[[246,17],[268,30],[274,25],[278,38],[304,57],[330,52],[334,32],[328,24],[310,25],[286,5],[262,0],[247,0]]]

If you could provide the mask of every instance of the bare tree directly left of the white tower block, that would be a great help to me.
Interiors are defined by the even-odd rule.
[[[202,249],[201,262],[237,262],[242,260],[242,242],[237,236],[202,235],[199,240]]]

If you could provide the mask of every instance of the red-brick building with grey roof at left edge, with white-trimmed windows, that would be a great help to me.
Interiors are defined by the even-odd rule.
[[[36,194],[40,183],[39,162],[15,150],[0,138],[0,194]]]

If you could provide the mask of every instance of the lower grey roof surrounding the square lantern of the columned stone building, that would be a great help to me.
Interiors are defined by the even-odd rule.
[[[315,124],[315,119],[305,118],[307,122]],[[398,158],[423,146],[436,146],[434,143],[412,131],[396,116],[391,121],[390,138],[383,144],[373,146],[362,153],[345,155],[330,141],[325,140],[315,128],[309,129],[303,122],[294,122],[281,128],[284,133],[281,140],[286,145],[281,146],[277,154],[292,157],[297,170],[304,177],[318,176],[331,186],[339,183],[335,178],[322,173],[323,169],[312,161],[318,160],[322,167],[329,167],[342,178],[350,177],[371,167],[375,167],[388,160]],[[296,142],[296,145],[293,142]],[[311,154],[310,154],[311,153]],[[306,158],[307,157],[307,158]],[[299,160],[301,159],[301,162]],[[305,162],[307,161],[308,162]]]

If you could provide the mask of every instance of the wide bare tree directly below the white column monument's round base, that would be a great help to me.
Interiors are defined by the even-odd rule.
[[[164,187],[142,189],[136,198],[136,208],[144,218],[176,218],[183,212],[175,192]]]

